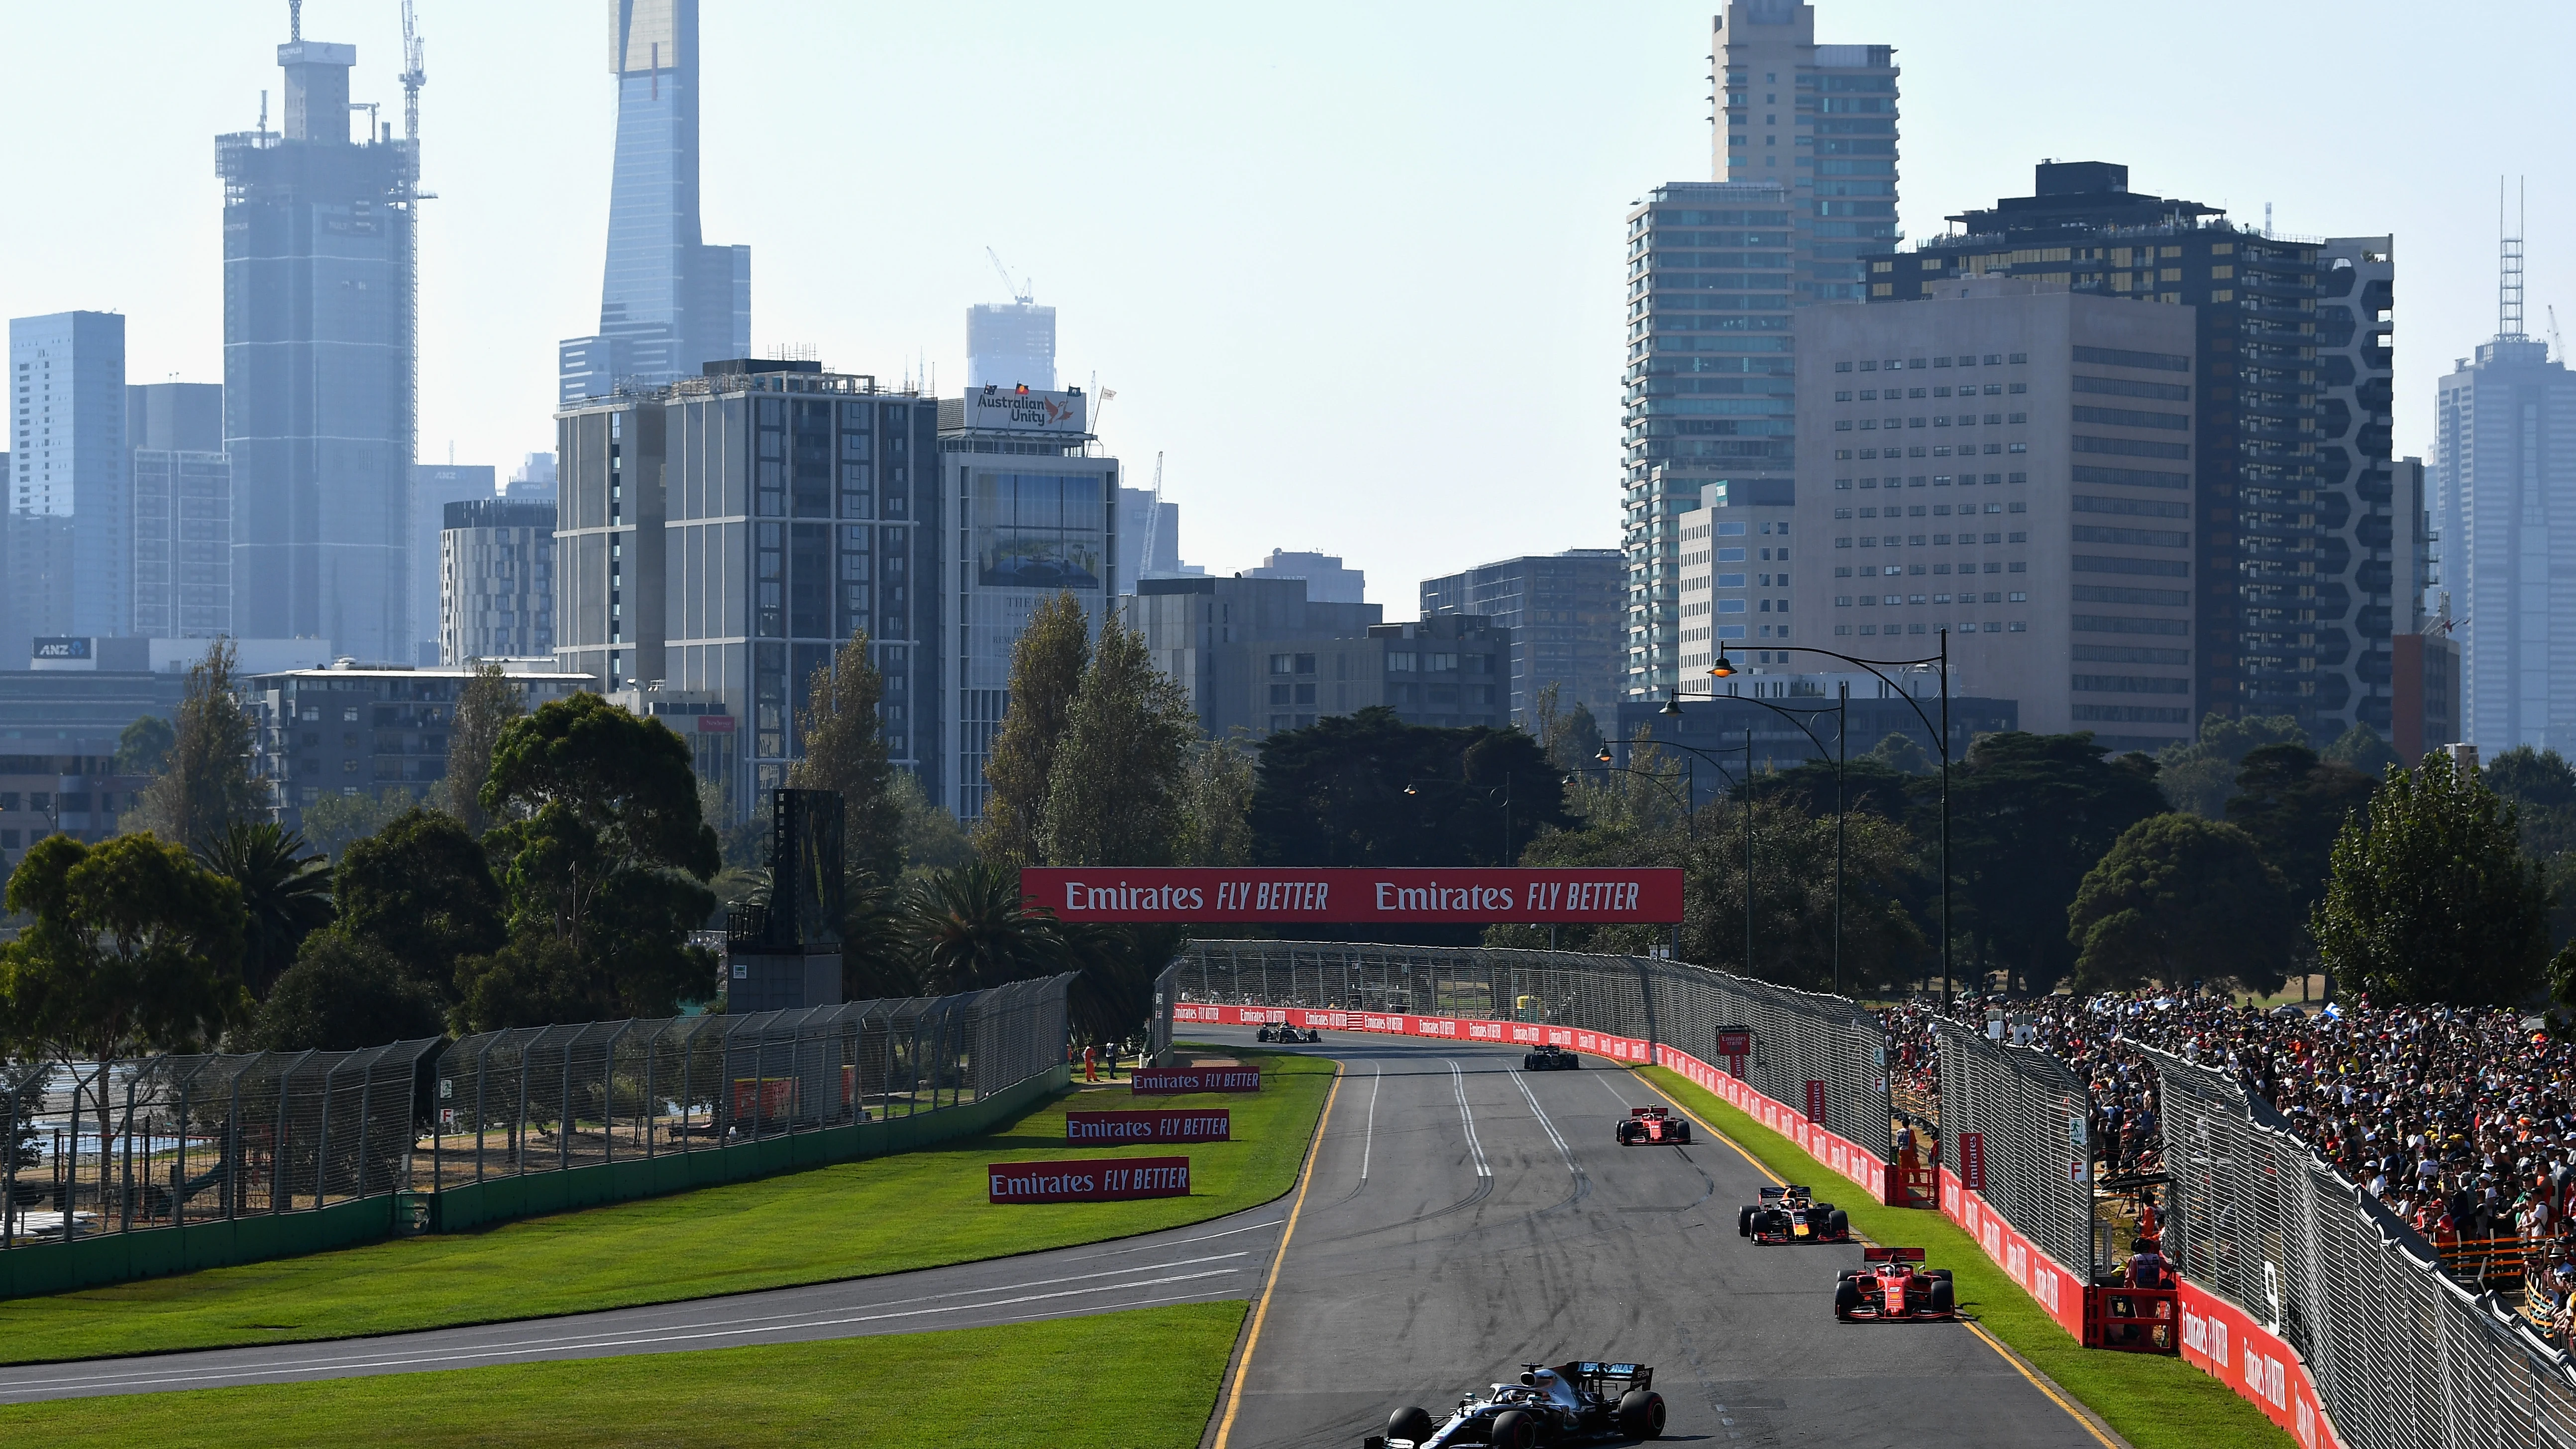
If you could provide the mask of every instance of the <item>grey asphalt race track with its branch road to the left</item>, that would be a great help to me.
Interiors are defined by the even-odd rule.
[[[1252,1045],[1249,1029],[1203,1040]],[[1303,1197],[1144,1238],[984,1264],[567,1318],[330,1343],[0,1369],[0,1403],[281,1385],[549,1359],[976,1328],[1255,1300],[1260,1328],[1208,1441],[1358,1446],[1522,1361],[1656,1367],[1667,1441],[2074,1449],[2105,1444],[1958,1323],[1834,1323],[1860,1248],[1754,1248],[1770,1179],[1726,1143],[1620,1148],[1659,1102],[1602,1058],[1334,1035],[1345,1063]],[[1814,1184],[1832,1197],[1834,1184]],[[1298,1223],[1285,1253],[1280,1225]],[[1937,1266],[1937,1264],[1935,1264]],[[1262,1297],[1267,1292],[1267,1297]]]

